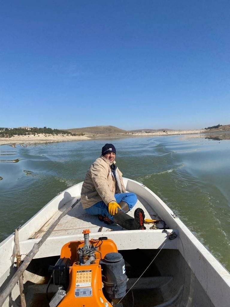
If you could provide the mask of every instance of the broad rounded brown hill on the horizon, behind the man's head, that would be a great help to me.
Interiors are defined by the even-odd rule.
[[[83,127],[83,128],[71,128],[65,129],[71,133],[84,133],[84,134],[113,134],[113,133],[126,133],[128,131],[122,130],[114,126],[93,126],[93,127]]]

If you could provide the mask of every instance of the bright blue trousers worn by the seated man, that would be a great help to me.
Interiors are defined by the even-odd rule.
[[[134,193],[120,193],[115,194],[114,196],[118,204],[122,200],[125,201],[128,204],[129,210],[131,210],[137,202],[137,197]],[[108,216],[110,220],[113,220],[113,215],[109,214],[108,206],[102,200],[98,201],[98,203],[94,204],[90,208],[86,208],[85,211],[91,215],[101,214],[103,216]]]

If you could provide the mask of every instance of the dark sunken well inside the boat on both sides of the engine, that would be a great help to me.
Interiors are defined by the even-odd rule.
[[[119,252],[124,258],[128,277],[123,307],[214,307],[177,249],[132,249]],[[54,266],[58,259],[59,256],[33,259],[27,267],[24,274],[27,307],[49,306],[58,286],[51,282],[48,288],[51,274],[48,266]],[[128,291],[130,288],[131,291]],[[20,304],[20,296],[16,303]]]

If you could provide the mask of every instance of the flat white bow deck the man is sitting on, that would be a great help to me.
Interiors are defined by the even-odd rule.
[[[136,208],[142,208],[144,210],[145,219],[156,219],[161,220],[158,216],[157,212],[153,210],[153,208],[140,196],[137,195],[137,203],[128,212],[128,215],[134,216],[134,211]],[[50,225],[62,214],[62,212],[66,209],[66,205],[64,205],[59,211],[57,211],[51,219],[49,219],[30,239],[40,238],[44,233],[48,230]],[[152,226],[152,224],[145,224],[145,227],[148,229]],[[103,227],[103,228],[102,228]],[[158,227],[164,227],[164,224],[159,222]],[[58,223],[53,232],[51,233],[51,237],[55,236],[64,236],[64,235],[75,235],[82,233],[83,229],[90,229],[90,232],[95,233],[98,231],[118,231],[118,230],[126,230],[121,226],[113,223],[111,225],[107,225],[104,222],[101,222],[98,219],[98,216],[92,216],[86,213],[81,205],[81,202],[78,202]]]

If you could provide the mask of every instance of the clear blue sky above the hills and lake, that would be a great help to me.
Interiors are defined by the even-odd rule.
[[[0,126],[230,124],[229,1],[1,1]]]

